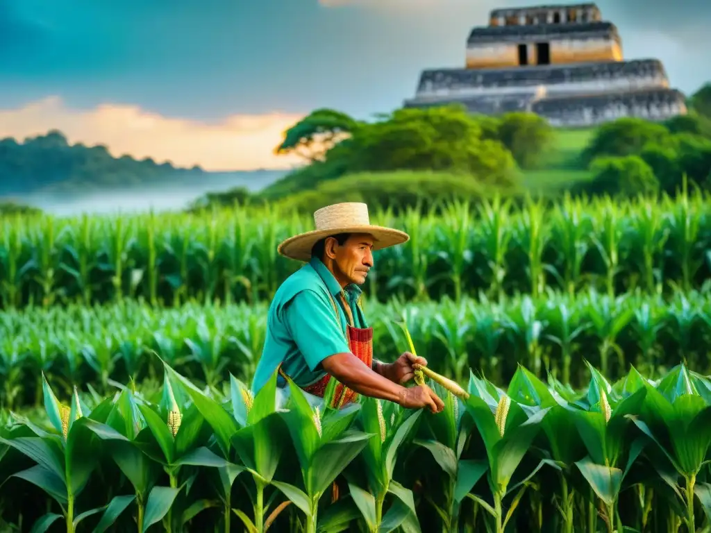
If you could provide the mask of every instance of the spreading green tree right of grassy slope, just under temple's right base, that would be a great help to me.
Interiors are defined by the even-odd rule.
[[[586,165],[601,156],[636,156],[647,144],[665,144],[670,132],[662,124],[623,118],[599,126],[582,153]]]

